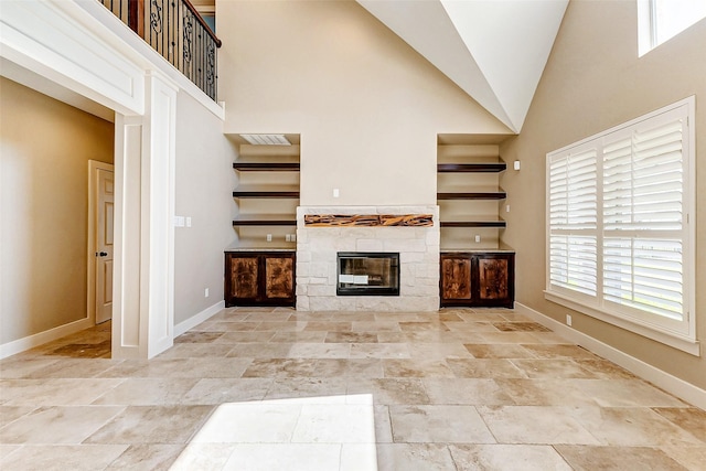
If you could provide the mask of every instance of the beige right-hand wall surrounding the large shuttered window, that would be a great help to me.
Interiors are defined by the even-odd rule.
[[[512,213],[505,242],[517,250],[517,300],[696,386],[706,388],[706,361],[544,300],[545,156],[547,152],[696,95],[697,201],[706,195],[706,21],[638,58],[634,1],[573,0],[527,120],[501,147],[502,186]],[[696,286],[706,286],[706,204],[697,207]],[[706,292],[696,292],[697,335],[706,339]]]

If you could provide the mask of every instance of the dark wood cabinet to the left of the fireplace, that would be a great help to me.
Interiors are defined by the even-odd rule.
[[[293,251],[227,251],[225,306],[295,306]]]

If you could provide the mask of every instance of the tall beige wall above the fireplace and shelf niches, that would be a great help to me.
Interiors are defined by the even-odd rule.
[[[301,133],[302,205],[436,204],[437,133],[510,132],[352,0],[216,9],[225,130]]]

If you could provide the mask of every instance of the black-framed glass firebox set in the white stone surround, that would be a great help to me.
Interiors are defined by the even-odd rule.
[[[339,251],[338,296],[399,296],[399,254]]]

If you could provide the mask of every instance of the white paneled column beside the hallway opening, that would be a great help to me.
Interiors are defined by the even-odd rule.
[[[145,116],[116,117],[114,358],[173,344],[176,88],[146,77]]]

